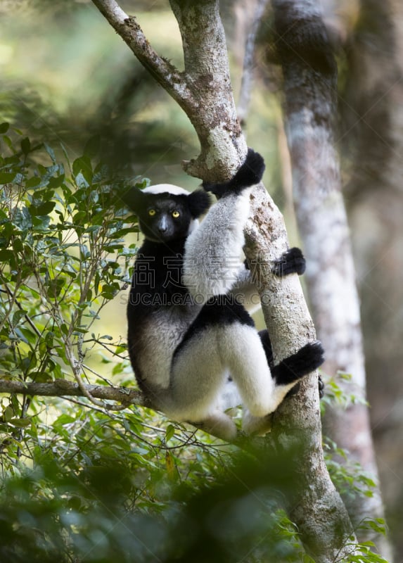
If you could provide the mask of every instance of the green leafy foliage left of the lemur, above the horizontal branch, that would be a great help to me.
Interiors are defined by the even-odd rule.
[[[49,146],[51,163],[34,165],[29,139],[18,151],[6,124],[1,130],[11,149],[0,160],[4,374],[24,381],[82,377],[87,351],[102,339],[91,326],[127,282],[135,252],[122,239],[129,230],[122,204],[108,170],[91,165],[93,143],[66,177]]]

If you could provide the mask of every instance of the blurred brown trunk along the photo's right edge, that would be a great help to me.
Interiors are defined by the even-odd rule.
[[[403,4],[361,0],[346,46],[341,138],[368,395],[396,560],[403,559]],[[343,103],[344,102],[344,103]],[[348,133],[348,134],[347,134]]]

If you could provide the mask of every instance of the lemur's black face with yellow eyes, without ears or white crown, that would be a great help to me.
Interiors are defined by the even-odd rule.
[[[141,202],[139,226],[146,239],[153,242],[169,242],[184,239],[191,223],[191,211],[186,196],[172,194],[144,194]]]

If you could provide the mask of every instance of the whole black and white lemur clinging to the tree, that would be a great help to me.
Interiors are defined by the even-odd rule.
[[[241,255],[250,192],[263,171],[262,157],[249,149],[224,184],[203,184],[205,191],[193,193],[159,184],[124,196],[145,237],[127,307],[136,379],[155,408],[224,439],[236,435],[226,408],[242,404],[243,429],[254,431],[324,361],[315,341],[274,366],[267,331],[257,332],[241,303],[240,296],[247,302],[257,294]],[[218,201],[199,225],[210,207],[207,191]],[[273,271],[301,273],[304,267],[293,248]]]

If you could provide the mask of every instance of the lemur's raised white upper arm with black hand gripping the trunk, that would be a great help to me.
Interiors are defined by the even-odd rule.
[[[203,184],[219,200],[186,239],[183,281],[198,303],[227,293],[243,269],[243,229],[250,213],[250,191],[262,179],[264,161],[249,149],[236,175],[223,184]]]

